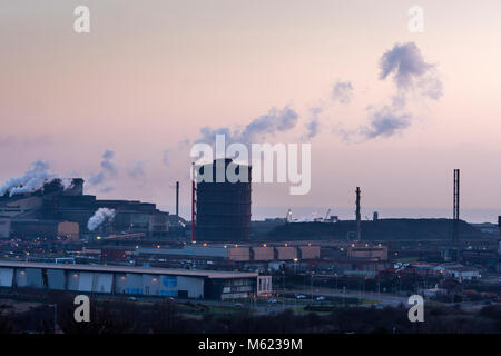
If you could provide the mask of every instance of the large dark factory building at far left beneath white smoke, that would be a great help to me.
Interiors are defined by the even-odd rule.
[[[155,204],[136,200],[98,200],[84,195],[84,179],[72,179],[69,188],[55,179],[42,189],[0,197],[0,238],[56,237],[78,238],[89,234],[87,222],[99,209],[114,209],[110,221],[96,234],[141,233],[148,237],[164,237],[169,230],[168,212]]]

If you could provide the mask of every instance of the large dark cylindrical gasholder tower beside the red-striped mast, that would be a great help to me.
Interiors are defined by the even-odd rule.
[[[227,171],[235,172],[244,181],[228,180]],[[198,180],[200,175],[205,177],[205,181],[196,187],[197,240],[230,243],[249,239],[250,171],[250,166],[235,164],[228,158],[196,167]],[[248,179],[243,179],[245,176]]]

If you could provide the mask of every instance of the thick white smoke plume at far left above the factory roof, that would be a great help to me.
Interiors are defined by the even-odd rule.
[[[31,165],[22,177],[11,178],[3,186],[0,187],[0,197],[9,192],[9,196],[16,196],[24,192],[33,192],[43,188],[45,184],[58,179],[58,175],[49,171],[48,162],[38,160]],[[61,179],[65,189],[71,186],[67,180]]]

